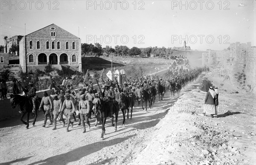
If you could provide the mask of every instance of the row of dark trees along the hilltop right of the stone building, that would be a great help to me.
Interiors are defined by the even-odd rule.
[[[150,57],[151,55],[153,57],[158,57],[158,58],[173,58],[172,53],[173,50],[172,48],[165,48],[163,47],[147,47],[147,48],[137,48],[137,47],[132,47],[131,49],[128,48],[127,46],[122,46],[122,45],[116,45],[114,48],[111,46],[106,46],[102,48],[102,45],[99,43],[95,43],[94,45],[92,43],[82,43],[81,44],[81,52],[82,56],[86,55],[94,55],[96,56],[101,56],[101,55],[114,55],[114,56],[133,56],[136,57],[139,55],[140,57]]]

